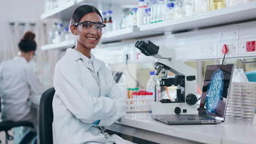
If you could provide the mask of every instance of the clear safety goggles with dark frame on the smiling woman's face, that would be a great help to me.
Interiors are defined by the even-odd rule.
[[[90,22],[90,21],[78,22],[78,23],[74,23],[73,25],[78,26],[79,30],[85,33],[92,33],[93,29],[95,28],[97,34],[102,34],[104,31],[104,27],[106,27],[106,25],[101,22]]]

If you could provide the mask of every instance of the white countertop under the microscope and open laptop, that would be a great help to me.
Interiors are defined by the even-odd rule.
[[[226,118],[221,124],[167,125],[148,112],[126,113],[116,124],[202,143],[256,143],[256,120]]]

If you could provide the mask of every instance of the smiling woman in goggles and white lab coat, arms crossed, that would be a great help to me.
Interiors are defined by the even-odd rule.
[[[53,99],[54,143],[132,143],[104,133],[125,115],[125,97],[111,71],[92,55],[105,25],[91,5],[75,9],[70,26],[77,43],[57,63]]]

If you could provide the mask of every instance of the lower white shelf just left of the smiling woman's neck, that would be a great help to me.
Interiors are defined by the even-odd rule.
[[[75,45],[75,40],[67,40],[61,41],[60,43],[56,44],[47,44],[41,47],[41,50],[52,50],[52,49],[67,49],[69,47],[73,47]]]

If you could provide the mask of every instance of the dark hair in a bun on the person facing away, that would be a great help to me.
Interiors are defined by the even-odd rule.
[[[31,31],[27,31],[20,40],[19,49],[23,52],[36,51],[37,44],[34,38],[36,38],[36,35]]]

